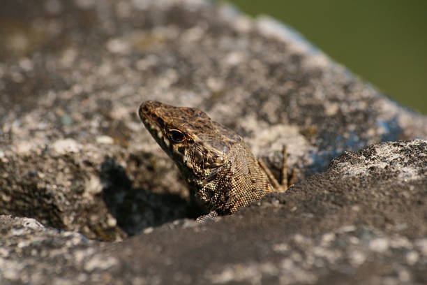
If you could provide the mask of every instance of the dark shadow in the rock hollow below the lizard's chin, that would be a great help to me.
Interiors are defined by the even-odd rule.
[[[100,180],[107,209],[117,219],[117,226],[128,235],[189,215],[188,202],[176,194],[134,188],[125,168],[111,157],[106,156],[101,164]]]

